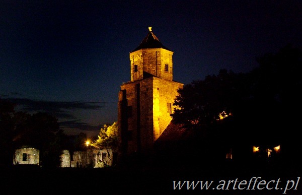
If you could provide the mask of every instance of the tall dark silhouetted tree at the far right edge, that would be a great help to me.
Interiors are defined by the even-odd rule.
[[[257,61],[259,67],[252,72],[254,104],[257,105],[254,109],[261,110],[264,129],[270,130],[264,132],[263,138],[267,142],[280,140],[288,147],[286,153],[295,157],[301,154],[293,149],[300,142],[296,129],[302,108],[301,49],[289,44],[276,53],[258,57]],[[284,147],[281,146],[281,151]]]

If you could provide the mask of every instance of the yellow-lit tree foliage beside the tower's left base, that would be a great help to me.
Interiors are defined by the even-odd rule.
[[[104,124],[98,139],[91,143],[91,146],[98,149],[116,148],[117,141],[117,122],[114,122],[112,125]]]

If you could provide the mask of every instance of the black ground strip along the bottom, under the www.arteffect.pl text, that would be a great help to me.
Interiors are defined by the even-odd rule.
[[[0,194],[297,195],[302,194],[302,178],[299,179],[302,176],[300,166],[297,163],[292,166],[277,165],[273,167],[240,164],[208,164],[198,167],[190,166],[186,162],[171,164],[171,166],[133,165],[53,170],[15,166],[1,170]],[[245,180],[246,184],[244,184]],[[192,185],[190,186],[192,181],[194,181],[194,185],[197,183],[194,189],[192,189]],[[201,181],[203,184],[206,181],[210,184],[212,181],[212,184],[208,189],[201,189]],[[223,181],[226,182],[224,186]],[[271,182],[267,184],[269,181]],[[278,184],[277,181],[279,181]],[[242,184],[239,186],[240,182]],[[247,189],[249,182],[251,183],[250,189]],[[263,184],[264,182],[266,183]],[[188,183],[189,185],[187,185]],[[229,187],[227,187],[228,183],[230,183]],[[234,183],[236,184],[234,185]],[[286,184],[287,190],[285,190]],[[255,189],[252,189],[253,185]],[[180,187],[181,189],[179,189]]]

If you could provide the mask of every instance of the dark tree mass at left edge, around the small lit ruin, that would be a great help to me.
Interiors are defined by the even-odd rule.
[[[0,99],[0,164],[12,165],[16,149],[34,147],[40,151],[40,165],[58,167],[66,135],[56,117],[48,113],[29,114],[15,111],[15,105]]]

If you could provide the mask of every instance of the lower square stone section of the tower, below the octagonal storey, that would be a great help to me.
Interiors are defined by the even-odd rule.
[[[139,87],[138,87],[139,86]],[[121,92],[126,92],[126,110],[124,112],[127,120],[127,154],[142,152],[147,153],[153,149],[154,142],[165,131],[172,117],[168,112],[167,104],[173,103],[178,95],[177,89],[183,84],[162,78],[150,77],[135,82],[125,83],[121,86]],[[119,95],[123,101],[122,95]],[[131,107],[131,113],[129,113]],[[138,121],[139,120],[139,121]],[[122,119],[120,118],[121,122]]]

